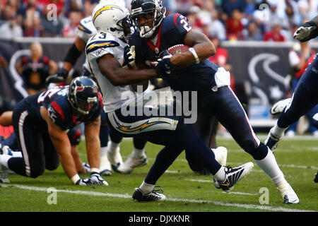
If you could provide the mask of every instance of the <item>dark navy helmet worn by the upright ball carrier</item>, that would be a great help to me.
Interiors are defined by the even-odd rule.
[[[140,30],[141,37],[151,37],[155,29],[163,22],[166,9],[162,0],[132,0],[131,19]],[[140,23],[140,18],[146,16],[146,23]],[[148,23],[153,22],[151,26]]]

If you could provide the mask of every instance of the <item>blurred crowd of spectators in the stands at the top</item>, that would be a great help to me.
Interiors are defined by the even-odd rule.
[[[131,0],[126,1],[129,8]],[[0,0],[0,37],[76,37],[98,0]],[[290,41],[318,0],[163,0],[169,13],[218,40]]]

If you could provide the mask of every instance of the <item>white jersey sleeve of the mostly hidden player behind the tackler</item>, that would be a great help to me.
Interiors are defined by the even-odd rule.
[[[81,40],[83,40],[83,42],[85,42],[85,44],[87,44],[88,40],[90,39],[90,37],[92,37],[93,35],[97,34],[97,30],[93,24],[93,20],[91,16],[88,16],[86,18],[83,18],[81,20],[81,23],[79,23],[78,27],[77,27],[77,35],[78,37],[81,38]],[[90,71],[90,67],[88,66],[88,61],[87,59],[85,60],[85,63],[83,64],[83,67]]]

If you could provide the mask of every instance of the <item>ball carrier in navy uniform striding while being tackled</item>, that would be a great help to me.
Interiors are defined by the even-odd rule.
[[[165,17],[161,0],[131,1],[131,19],[139,32],[131,35],[126,64],[143,68],[147,61],[173,90],[196,91],[198,102],[205,105],[204,114],[215,115],[243,150],[252,155],[257,165],[271,177],[283,203],[298,203],[299,198],[285,180],[269,148],[255,136],[249,119],[230,88],[230,73],[208,58],[216,54],[213,43],[201,32],[192,30],[187,18],[180,14]],[[171,56],[169,47],[186,44],[189,51]],[[192,63],[192,66],[187,66]],[[187,66],[185,69],[178,67]],[[192,156],[195,158],[195,155]]]

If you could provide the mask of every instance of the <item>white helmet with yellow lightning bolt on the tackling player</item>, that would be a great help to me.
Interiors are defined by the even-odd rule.
[[[131,20],[122,0],[103,0],[95,6],[92,20],[96,30],[124,39],[131,35]]]

